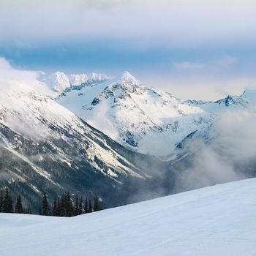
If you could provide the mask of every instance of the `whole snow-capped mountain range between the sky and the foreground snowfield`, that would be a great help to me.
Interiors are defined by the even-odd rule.
[[[256,97],[181,100],[129,72],[42,72],[39,80],[47,93],[21,84],[0,97],[0,184],[34,209],[45,189],[50,198],[99,195],[107,208],[176,192],[177,176],[192,165],[187,141],[210,140],[221,113]]]

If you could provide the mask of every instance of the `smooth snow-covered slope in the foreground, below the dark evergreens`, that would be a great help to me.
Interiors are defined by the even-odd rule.
[[[0,255],[256,255],[256,178],[69,219],[1,214]]]

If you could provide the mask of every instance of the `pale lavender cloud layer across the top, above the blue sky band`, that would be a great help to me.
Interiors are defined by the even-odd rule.
[[[255,2],[2,0],[1,42],[116,38],[192,47],[255,39]]]

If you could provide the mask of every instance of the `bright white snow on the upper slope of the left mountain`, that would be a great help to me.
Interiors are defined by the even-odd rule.
[[[113,167],[118,173],[129,172],[129,168],[120,162],[118,163],[115,158],[122,159],[123,162],[127,162],[127,160],[111,150],[105,140],[97,138],[97,135],[93,134],[91,128],[86,126],[74,113],[54,102],[49,97],[37,93],[37,91],[26,91],[23,88],[9,91],[5,97],[1,97],[0,110],[0,125],[9,127],[31,140],[39,141],[59,138],[64,135],[60,132],[61,129],[81,135],[82,138],[86,138],[86,132],[91,133],[92,138],[86,138],[89,140],[89,144],[86,147],[86,151],[84,151],[86,158],[90,159],[91,164],[95,165],[99,171],[103,171],[94,162],[94,158],[97,156],[110,169]],[[53,127],[56,127],[56,129],[52,129]],[[1,133],[0,138],[6,143],[6,148],[9,148],[9,150],[15,148]],[[102,145],[97,143],[97,140],[100,140]],[[61,156],[61,152],[59,153]],[[62,157],[59,160],[69,162],[71,165],[70,159],[64,157],[64,155]],[[130,173],[133,172],[131,171]]]

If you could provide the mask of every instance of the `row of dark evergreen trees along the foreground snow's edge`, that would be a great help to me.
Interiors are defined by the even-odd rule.
[[[94,197],[92,202],[87,197],[83,200],[82,196],[75,195],[75,200],[72,200],[69,191],[64,192],[61,196],[56,196],[52,203],[48,200],[47,192],[42,195],[42,202],[39,206],[39,214],[45,216],[57,217],[73,217],[80,214],[89,214],[93,211],[101,211],[103,209],[102,202],[98,196]],[[31,206],[23,206],[22,198],[18,195],[15,204],[13,204],[10,189],[0,191],[0,212],[17,213],[17,214],[32,214]]]

